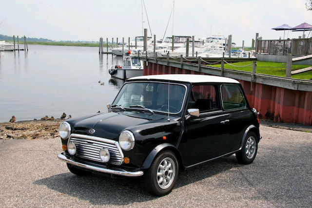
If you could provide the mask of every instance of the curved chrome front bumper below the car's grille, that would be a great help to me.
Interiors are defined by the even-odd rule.
[[[96,167],[96,166],[92,166],[92,165],[79,163],[77,161],[70,159],[70,157],[64,155],[63,152],[59,153],[58,158],[64,162],[66,162],[66,163],[69,163],[69,164],[74,165],[74,166],[78,166],[80,168],[88,169],[88,170],[104,172],[104,173],[113,174],[113,175],[127,176],[127,177],[137,177],[137,176],[143,175],[142,170],[135,171],[135,172],[126,171],[126,170],[122,170],[122,169],[113,170],[113,169],[100,168],[100,167]]]

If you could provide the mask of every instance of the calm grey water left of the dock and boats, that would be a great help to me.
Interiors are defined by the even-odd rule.
[[[100,56],[97,47],[28,47],[0,52],[0,122],[106,112],[123,84],[108,74],[122,58]]]

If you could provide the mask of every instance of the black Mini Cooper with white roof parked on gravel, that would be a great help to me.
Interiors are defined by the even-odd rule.
[[[107,107],[108,113],[60,124],[59,159],[77,175],[143,176],[158,196],[195,165],[234,153],[238,162],[252,163],[261,138],[257,112],[231,78],[134,77]]]

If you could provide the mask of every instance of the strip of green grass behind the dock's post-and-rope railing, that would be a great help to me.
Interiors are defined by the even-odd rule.
[[[237,63],[231,63],[235,66],[245,66],[248,64],[252,64],[253,61],[243,61]],[[209,65],[214,67],[221,67],[221,64]],[[303,69],[309,67],[309,65],[297,65],[292,64],[292,71],[297,69]],[[234,69],[238,71],[252,72],[253,65],[246,67],[234,67],[229,64],[224,64],[224,68],[226,69]],[[267,62],[267,61],[257,61],[257,69],[256,73],[265,74],[265,75],[274,75],[274,76],[286,76],[286,63],[276,63],[276,62]],[[300,74],[292,75],[292,78],[296,79],[311,79],[312,71],[303,72]]]

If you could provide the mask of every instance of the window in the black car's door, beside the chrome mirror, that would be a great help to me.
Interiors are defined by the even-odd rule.
[[[197,108],[199,113],[220,110],[220,103],[215,89],[215,85],[193,86],[187,108]]]

